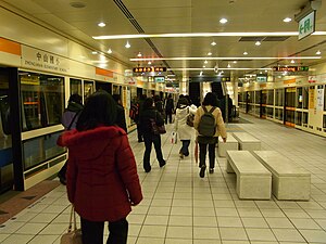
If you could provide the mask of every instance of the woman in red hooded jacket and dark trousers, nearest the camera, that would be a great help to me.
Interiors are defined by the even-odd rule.
[[[83,244],[126,244],[127,215],[142,200],[136,162],[126,132],[114,126],[116,105],[105,91],[90,95],[76,129],[59,144],[68,147],[68,200],[80,216]]]

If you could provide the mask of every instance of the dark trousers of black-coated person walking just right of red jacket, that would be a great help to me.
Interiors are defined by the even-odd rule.
[[[143,168],[148,169],[151,167],[150,157],[152,151],[152,143],[154,144],[154,149],[156,152],[156,158],[159,163],[163,163],[163,154],[161,149],[161,136],[160,134],[152,134],[152,133],[145,133],[143,134],[143,142],[145,142],[145,154],[143,154]]]

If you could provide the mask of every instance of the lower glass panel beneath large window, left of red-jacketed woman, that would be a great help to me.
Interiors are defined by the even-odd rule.
[[[23,142],[24,169],[30,169],[42,162],[49,160],[66,150],[57,145],[61,132],[50,133]]]

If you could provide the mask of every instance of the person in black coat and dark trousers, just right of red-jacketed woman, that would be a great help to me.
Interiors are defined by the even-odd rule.
[[[143,169],[146,172],[151,171],[150,156],[152,151],[152,143],[154,144],[156,158],[160,167],[165,165],[161,149],[161,134],[154,134],[152,131],[151,119],[154,119],[158,126],[164,125],[164,119],[161,114],[153,106],[153,99],[148,98],[143,102],[142,112],[140,114],[140,129],[145,142],[145,154],[143,154]]]

